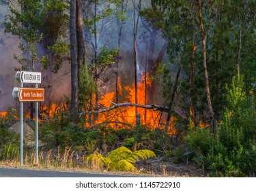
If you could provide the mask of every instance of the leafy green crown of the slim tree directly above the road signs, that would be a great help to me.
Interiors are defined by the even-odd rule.
[[[18,1],[18,6],[20,7],[18,10],[11,4],[9,6],[11,14],[8,15],[8,20],[4,23],[5,33],[12,33],[26,42],[26,44],[20,43],[18,47],[29,57],[14,55],[14,59],[22,65],[23,69],[34,70],[35,63],[40,62],[35,43],[40,42],[43,38],[42,33],[39,32],[42,26],[42,3],[37,0],[24,0]]]

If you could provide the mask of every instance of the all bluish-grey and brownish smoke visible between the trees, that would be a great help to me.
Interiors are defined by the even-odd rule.
[[[13,59],[13,55],[20,55],[21,52],[18,49],[18,38],[5,34],[3,32],[3,16],[8,14],[8,9],[1,6],[0,14],[0,40],[3,39],[4,43],[0,43],[0,111],[6,111],[10,106],[16,106],[16,101],[12,98],[12,89],[18,87],[15,79],[14,68],[19,67],[19,63]],[[134,83],[134,50],[133,50],[133,29],[132,29],[132,11],[128,6],[126,12],[127,16],[130,17],[126,21],[122,30],[122,40],[120,45],[120,60],[119,60],[119,75],[122,81],[122,86],[132,85]],[[108,18],[109,19],[109,18]],[[141,34],[147,33],[147,30],[143,28],[142,20],[139,19],[139,29],[137,38],[137,71],[139,80],[141,76],[145,74],[146,55],[147,48],[145,46],[145,40],[141,38]],[[118,45],[118,25],[116,20],[109,20],[109,22],[99,22],[97,27],[98,37],[98,53],[102,45],[109,46],[109,49],[115,48]],[[164,40],[158,35],[156,37],[155,55],[157,57],[158,50],[162,47]],[[94,39],[92,38],[92,41]],[[147,39],[149,44],[150,39]],[[44,48],[40,45],[37,46],[39,55],[44,54]],[[92,47],[90,43],[86,45],[87,63],[90,63],[94,57]],[[166,63],[167,57],[165,57]],[[113,69],[115,70],[115,68]],[[37,72],[40,72],[39,68]],[[57,74],[51,72],[51,68],[47,71],[42,72],[42,85],[45,88],[45,101],[42,104],[49,106],[49,104],[59,102],[63,98],[63,95],[70,96],[70,64],[63,63],[63,66]],[[114,82],[115,78],[113,78]],[[107,90],[113,91],[115,83],[112,83],[110,87],[106,87]],[[158,99],[159,100],[159,99]]]

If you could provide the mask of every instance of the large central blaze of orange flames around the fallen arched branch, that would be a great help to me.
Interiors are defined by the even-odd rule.
[[[138,83],[138,104],[144,105],[145,103],[147,103],[145,85],[147,85],[147,87],[150,87],[152,85],[152,80],[149,79],[149,75],[146,75],[146,78],[145,76],[142,76],[141,80]],[[121,91],[123,90],[121,80],[119,80],[118,87],[119,92],[121,93]],[[128,95],[126,95],[126,100],[134,103],[134,83],[132,85],[127,85],[126,87],[124,87],[124,89],[128,92]],[[114,91],[106,93],[106,95],[102,95],[99,101],[99,105],[102,108],[109,108],[112,104],[111,102],[115,102]],[[166,122],[164,121],[167,117],[166,113],[161,114],[160,111],[146,110],[145,108],[138,108],[138,113],[141,115],[141,125],[145,126],[146,128],[149,128],[150,130],[155,130],[157,128],[159,130],[165,130],[170,135],[176,134],[175,123],[177,121],[177,118],[172,116],[170,123],[167,126]],[[91,117],[91,115],[86,115],[85,117],[87,119],[87,122],[85,123],[85,128],[101,124],[109,124],[109,126],[116,130],[125,127],[131,128],[135,125],[136,120],[134,107],[115,108],[105,113],[99,113],[97,117]]]

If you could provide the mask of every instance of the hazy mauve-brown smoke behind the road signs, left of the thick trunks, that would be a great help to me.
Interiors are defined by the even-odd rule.
[[[19,68],[20,64],[13,57],[21,55],[18,48],[20,40],[10,33],[4,33],[3,17],[8,14],[6,6],[0,6],[0,111],[6,111],[9,107],[18,107],[14,98],[12,98],[12,90],[18,87],[16,82],[15,68]],[[38,55],[44,54],[44,48],[37,45]],[[40,72],[40,67],[36,68]],[[24,84],[25,87],[31,87],[31,84]],[[41,86],[41,85],[40,85]],[[63,63],[63,66],[57,74],[51,72],[51,68],[42,72],[42,86],[45,87],[45,101],[42,105],[59,102],[63,95],[70,96],[70,64]],[[29,104],[25,104],[29,107]],[[25,107],[26,108],[26,107]]]

